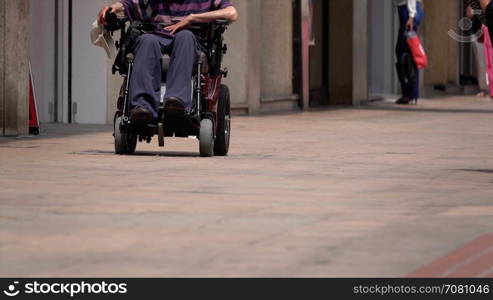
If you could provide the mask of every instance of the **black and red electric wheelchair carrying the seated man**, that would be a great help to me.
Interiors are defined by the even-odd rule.
[[[226,156],[229,152],[231,134],[231,102],[229,88],[222,84],[227,77],[227,68],[222,68],[223,55],[227,52],[223,33],[229,21],[218,20],[210,24],[193,24],[189,30],[202,30],[207,34],[207,43],[203,51],[198,51],[197,61],[192,78],[192,110],[185,114],[176,115],[166,111],[164,93],[166,91],[166,75],[170,57],[163,55],[161,103],[157,121],[153,124],[132,124],[129,118],[130,99],[129,88],[134,54],[129,45],[129,39],[135,30],[153,32],[156,24],[133,22],[127,26],[127,19],[108,12],[106,29],[111,33],[121,32],[116,42],[119,50],[113,65],[113,74],[119,72],[124,78],[114,117],[115,153],[120,155],[133,154],[138,142],[150,143],[157,136],[159,146],[164,147],[165,138],[196,137],[199,140],[200,156]],[[162,25],[166,26],[166,25]],[[128,27],[128,28],[127,28]]]

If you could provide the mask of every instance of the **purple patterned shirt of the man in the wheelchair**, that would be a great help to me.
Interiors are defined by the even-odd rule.
[[[233,6],[230,0],[120,0],[130,21],[171,24],[190,14],[200,14]],[[172,37],[164,28],[156,33]]]

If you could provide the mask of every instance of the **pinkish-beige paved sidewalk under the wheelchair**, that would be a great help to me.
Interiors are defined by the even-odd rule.
[[[2,277],[493,276],[489,99],[237,117],[227,158],[44,132],[0,139]]]

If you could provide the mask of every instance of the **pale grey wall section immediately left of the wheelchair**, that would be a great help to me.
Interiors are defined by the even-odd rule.
[[[108,121],[105,52],[94,47],[89,39],[91,24],[105,1],[72,2],[70,56],[68,1],[30,0],[32,10],[29,20],[32,35],[29,57],[41,122],[68,122],[70,57],[72,101],[77,104],[77,114],[73,111],[72,121],[85,124],[103,124]]]

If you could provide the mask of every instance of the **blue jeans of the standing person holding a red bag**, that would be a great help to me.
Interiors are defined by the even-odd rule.
[[[424,18],[424,10],[423,4],[421,2],[416,3],[416,16],[414,17],[414,30],[418,31],[418,27],[423,21]],[[407,5],[401,5],[398,7],[399,11],[399,37],[397,40],[397,46],[395,48],[395,54],[397,57],[401,57],[404,53],[410,53],[409,46],[407,45],[406,39],[406,24],[409,20],[409,10],[407,9]],[[402,96],[408,97],[410,99],[418,99],[419,98],[419,72],[416,65],[414,66],[416,71],[416,81],[413,84],[406,84],[401,82],[402,88]]]

